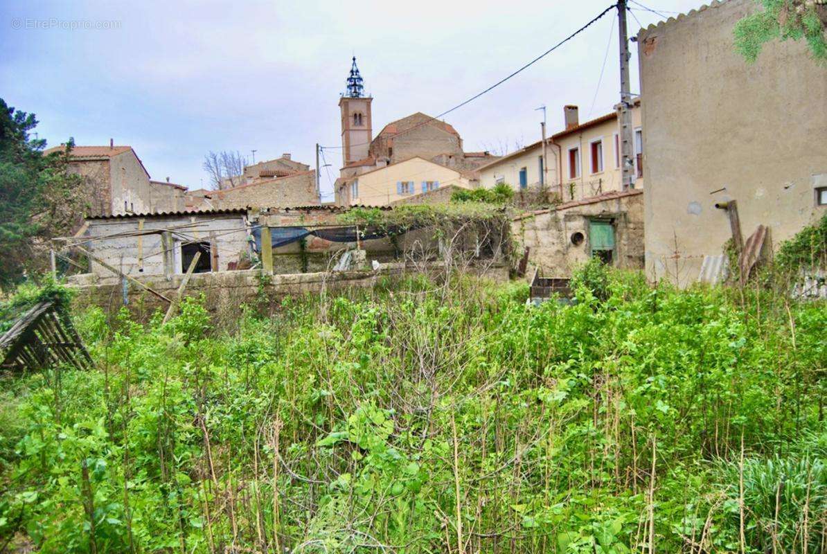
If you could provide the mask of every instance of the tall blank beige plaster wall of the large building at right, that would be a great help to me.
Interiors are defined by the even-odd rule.
[[[814,188],[827,186],[827,68],[795,41],[743,60],[732,30],[755,9],[716,2],[638,34],[655,279],[688,284],[721,253],[729,222],[715,203],[737,200],[744,238],[764,224],[774,246],[825,213]]]

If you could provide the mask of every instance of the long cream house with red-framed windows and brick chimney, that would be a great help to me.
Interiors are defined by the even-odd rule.
[[[563,108],[566,128],[546,140],[504,155],[479,168],[480,185],[511,185],[517,191],[547,189],[562,202],[590,198],[623,189],[620,170],[619,121],[617,112],[580,122],[578,107]],[[634,103],[634,189],[643,189],[643,129],[640,100]]]

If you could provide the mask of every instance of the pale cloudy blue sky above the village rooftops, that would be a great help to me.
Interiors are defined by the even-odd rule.
[[[495,84],[584,25],[609,0],[526,2],[28,2],[0,0],[0,98],[36,113],[49,146],[132,146],[152,179],[198,189],[210,150],[258,161],[289,152],[342,165],[338,98],[351,56],[373,96],[373,128],[436,116]],[[629,36],[701,0],[629,0]],[[637,18],[637,19],[636,19]],[[504,153],[619,100],[617,15],[445,117],[466,151]],[[632,92],[638,93],[632,44]],[[602,73],[602,79],[601,79]]]

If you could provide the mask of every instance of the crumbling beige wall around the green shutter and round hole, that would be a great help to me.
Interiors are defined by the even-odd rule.
[[[529,264],[539,267],[544,277],[571,277],[571,271],[590,258],[590,221],[601,219],[614,224],[614,265],[643,269],[643,193],[630,191],[606,196],[600,201],[562,204],[557,209],[515,218],[511,231],[522,246],[529,248]],[[575,232],[585,237],[579,246],[571,242]]]

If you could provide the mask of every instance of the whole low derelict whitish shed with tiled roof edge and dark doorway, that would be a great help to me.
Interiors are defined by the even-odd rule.
[[[251,259],[250,228],[246,209],[197,212],[144,213],[90,217],[81,236],[66,246],[88,251],[91,273],[112,277],[163,275],[187,272],[200,252],[195,273],[238,268]]]

